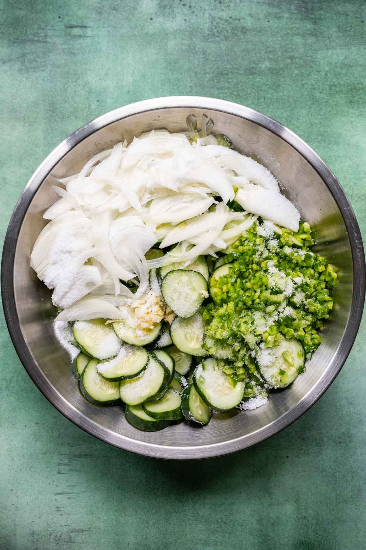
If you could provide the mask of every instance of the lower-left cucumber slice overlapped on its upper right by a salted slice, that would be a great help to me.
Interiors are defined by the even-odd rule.
[[[93,405],[111,405],[120,399],[119,382],[108,382],[97,371],[98,359],[91,359],[79,380],[80,391]]]

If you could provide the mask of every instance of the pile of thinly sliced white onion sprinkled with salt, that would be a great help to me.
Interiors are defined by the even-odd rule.
[[[191,117],[187,133],[153,130],[128,146],[119,143],[60,179],[64,187],[54,186],[60,198],[43,215],[51,221],[35,243],[31,266],[53,289],[53,303],[64,310],[60,321],[118,318],[119,296],[133,297],[126,283],[137,285],[135,298],[142,296],[149,270],[165,261],[145,259],[152,246],[179,243],[170,252],[176,262],[216,258],[273,201],[280,203],[273,221],[297,229],[300,214],[280,195],[271,172],[227,140],[218,145],[206,136],[209,123],[204,117],[198,133]],[[244,208],[251,201],[251,210],[227,206],[234,189]],[[258,190],[254,206],[250,197]]]

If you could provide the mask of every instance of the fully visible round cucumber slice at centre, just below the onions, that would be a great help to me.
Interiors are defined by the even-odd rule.
[[[208,296],[207,281],[197,271],[170,271],[162,280],[161,294],[176,315],[192,317]]]

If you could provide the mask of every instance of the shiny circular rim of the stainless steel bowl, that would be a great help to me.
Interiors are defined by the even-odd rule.
[[[196,446],[185,445],[182,447],[146,443],[123,436],[122,434],[116,432],[111,432],[108,428],[98,425],[98,423],[89,419],[81,411],[75,409],[74,406],[72,406],[69,401],[67,401],[63,395],[61,395],[52,386],[48,379],[41,373],[36,361],[33,359],[30,350],[25,343],[24,338],[22,337],[19,317],[15,306],[13,277],[15,250],[22,222],[33,196],[42,184],[43,180],[52,171],[55,164],[57,164],[61,158],[66,155],[66,153],[71,151],[71,149],[73,149],[83,139],[87,138],[89,135],[105,127],[106,125],[123,118],[128,118],[136,113],[179,107],[188,107],[193,109],[203,108],[210,109],[211,111],[221,111],[228,114],[234,114],[235,116],[250,120],[251,122],[272,131],[272,133],[278,135],[281,139],[294,147],[294,149],[297,150],[318,172],[333,195],[348,232],[353,263],[353,293],[350,316],[348,318],[344,335],[337,349],[337,353],[333,357],[330,367],[326,370],[325,376],[319,379],[316,385],[309,390],[309,392],[303,396],[301,400],[296,403],[294,407],[292,407],[292,409],[254,433],[238,436],[221,443],[209,443]],[[304,412],[306,412],[314,403],[316,403],[316,401],[321,397],[326,389],[329,388],[330,384],[338,375],[347,359],[348,354],[351,351],[354,339],[356,338],[359,324],[361,323],[365,298],[365,272],[365,256],[362,237],[352,206],[333,172],[330,171],[328,166],[326,166],[317,153],[309,147],[305,141],[303,141],[294,132],[277,122],[277,120],[274,120],[249,107],[239,105],[238,103],[232,103],[226,100],[219,100],[210,97],[168,96],[130,103],[129,105],[116,108],[113,111],[109,111],[108,113],[91,120],[70,134],[64,141],[55,147],[55,149],[47,156],[42,164],[40,164],[25,186],[24,191],[16,203],[12,217],[10,218],[3,246],[1,290],[5,320],[7,322],[10,338],[12,339],[19,359],[38,389],[40,389],[48,401],[50,401],[56,409],[66,416],[67,419],[82,428],[82,430],[99,439],[102,439],[102,441],[130,452],[145,456],[152,456],[155,458],[200,459],[233,453],[237,450],[260,443],[261,441],[264,441],[289,426],[292,422],[302,416],[302,414],[304,414]]]

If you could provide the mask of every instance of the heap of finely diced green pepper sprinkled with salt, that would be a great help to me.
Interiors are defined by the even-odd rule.
[[[212,301],[203,313],[204,342],[224,372],[246,380],[248,395],[253,381],[257,391],[264,388],[263,348],[268,352],[284,339],[296,339],[309,359],[321,342],[337,274],[311,251],[312,244],[308,223],[294,233],[258,220],[216,262]],[[217,350],[223,349],[228,352],[220,358]]]

